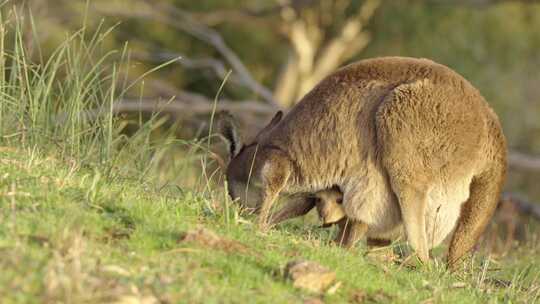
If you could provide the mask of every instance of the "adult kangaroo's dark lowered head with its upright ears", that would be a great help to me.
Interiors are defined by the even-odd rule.
[[[229,150],[226,169],[227,191],[234,201],[251,211],[257,211],[261,203],[261,171],[268,159],[267,149],[260,145],[263,139],[281,120],[283,112],[259,131],[250,143],[244,143],[236,119],[228,112],[217,115],[217,131],[225,139]]]

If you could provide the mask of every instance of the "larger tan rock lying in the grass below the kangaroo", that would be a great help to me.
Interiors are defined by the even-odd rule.
[[[311,261],[295,260],[285,267],[285,276],[293,286],[315,293],[325,292],[336,280],[336,273]]]

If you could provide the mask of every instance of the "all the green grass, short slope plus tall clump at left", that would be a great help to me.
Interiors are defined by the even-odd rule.
[[[106,31],[83,28],[32,60],[17,15],[0,24],[0,302],[538,301],[536,245],[449,274],[440,257],[411,270],[370,260],[363,246],[336,248],[309,217],[257,231],[209,169],[206,139],[178,140],[157,117],[113,116],[133,84],[119,72],[128,50],[103,51]],[[228,245],[181,241],[197,227]],[[341,286],[293,288],[283,267],[299,258],[334,270]]]

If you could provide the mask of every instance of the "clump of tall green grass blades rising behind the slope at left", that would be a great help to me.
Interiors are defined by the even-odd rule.
[[[128,139],[114,102],[170,62],[129,82],[122,69],[129,66],[127,46],[106,50],[113,28],[90,31],[84,24],[46,57],[39,43],[31,53],[28,41],[38,40],[37,25],[20,11],[0,10],[0,145],[54,150],[63,158],[109,167],[122,156],[144,167],[148,161],[137,160],[155,152],[149,134],[160,124],[156,116],[141,122]]]

